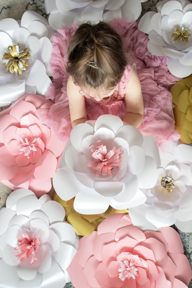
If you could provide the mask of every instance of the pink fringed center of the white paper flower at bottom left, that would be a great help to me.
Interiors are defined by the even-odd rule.
[[[35,253],[37,252],[37,247],[40,245],[40,242],[37,238],[34,238],[33,236],[30,237],[26,233],[22,234],[20,238],[18,238],[18,247],[15,248],[15,250],[19,251],[20,254],[16,255],[16,257],[19,257],[19,261],[23,262],[27,258],[31,258],[31,264],[35,260]]]

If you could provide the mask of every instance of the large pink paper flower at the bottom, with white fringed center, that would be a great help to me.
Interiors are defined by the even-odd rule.
[[[121,214],[80,239],[67,272],[75,288],[187,288],[192,277],[173,228],[144,232]]]

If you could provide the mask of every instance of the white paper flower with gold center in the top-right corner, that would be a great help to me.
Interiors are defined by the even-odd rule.
[[[192,4],[188,0],[163,0],[157,11],[142,16],[138,29],[149,34],[147,48],[168,56],[168,69],[176,77],[192,73]]]

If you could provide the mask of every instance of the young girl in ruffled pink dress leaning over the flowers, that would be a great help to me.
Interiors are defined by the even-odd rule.
[[[149,54],[136,22],[110,24],[82,24],[75,33],[75,26],[64,28],[52,37],[54,84],[46,96],[55,104],[44,110],[44,121],[65,142],[72,127],[102,114],[118,115],[158,145],[178,141],[167,90],[178,79],[167,58]]]

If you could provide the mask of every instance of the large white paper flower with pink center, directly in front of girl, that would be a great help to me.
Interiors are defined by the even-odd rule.
[[[75,197],[81,214],[104,213],[109,205],[122,210],[146,201],[140,189],[157,182],[159,150],[155,139],[123,126],[114,115],[100,116],[73,128],[53,185],[63,200]]]

